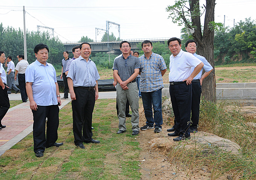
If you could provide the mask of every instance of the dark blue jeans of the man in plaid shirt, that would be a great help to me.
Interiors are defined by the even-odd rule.
[[[143,108],[146,117],[146,124],[149,126],[162,128],[163,116],[162,116],[162,89],[153,92],[141,92]],[[152,105],[154,108],[154,118],[152,112]]]

